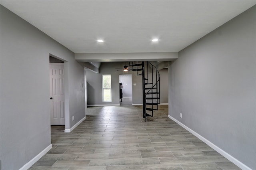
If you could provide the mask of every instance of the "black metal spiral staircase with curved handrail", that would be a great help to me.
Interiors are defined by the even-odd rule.
[[[132,71],[142,75],[143,87],[143,118],[153,117],[153,111],[160,104],[160,74],[158,69],[148,61],[129,61]]]

